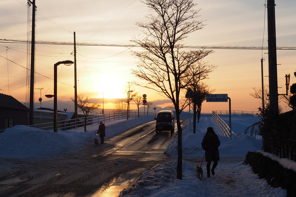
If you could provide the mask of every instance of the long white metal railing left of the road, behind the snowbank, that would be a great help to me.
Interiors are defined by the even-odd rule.
[[[128,112],[128,118],[136,118],[136,112],[130,111]],[[121,120],[121,119],[127,119],[127,112],[112,112],[107,114],[101,114],[101,115],[91,115],[86,118],[86,126],[93,125],[93,124],[99,124],[100,121],[107,122],[107,121],[115,121],[115,120]],[[62,120],[57,122],[57,128],[60,130],[71,130],[76,129],[79,127],[84,127],[84,118],[75,118],[70,120]],[[42,123],[42,124],[35,124],[35,125],[29,125],[33,126],[35,128],[40,128],[44,130],[50,130],[53,129],[54,123]]]

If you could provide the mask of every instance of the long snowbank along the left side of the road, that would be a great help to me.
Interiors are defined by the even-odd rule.
[[[106,138],[134,126],[154,120],[154,116],[141,116],[129,120],[106,122]],[[93,144],[98,124],[70,131],[42,129],[16,125],[0,133],[0,156],[39,157],[52,154],[69,154]]]

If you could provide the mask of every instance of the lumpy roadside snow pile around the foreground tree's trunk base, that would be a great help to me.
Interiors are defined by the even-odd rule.
[[[205,193],[204,183],[197,180],[195,169],[183,160],[183,180],[176,178],[177,162],[158,164],[144,172],[134,187],[120,192],[122,196],[199,196]]]

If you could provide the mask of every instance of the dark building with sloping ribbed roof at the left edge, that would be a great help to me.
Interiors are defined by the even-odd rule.
[[[28,125],[29,108],[10,95],[0,93],[0,130]]]

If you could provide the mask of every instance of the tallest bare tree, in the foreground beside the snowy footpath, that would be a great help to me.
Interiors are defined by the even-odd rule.
[[[190,65],[204,58],[213,50],[200,49],[197,51],[182,51],[181,42],[188,34],[203,28],[203,21],[195,21],[199,17],[193,0],[146,0],[143,1],[150,8],[146,17],[149,23],[136,23],[145,28],[144,36],[133,36],[131,40],[141,45],[144,51],[133,51],[139,59],[138,69],[132,69],[139,79],[147,81],[146,85],[135,84],[154,89],[158,94],[172,100],[176,110],[178,128],[178,165],[177,178],[182,179],[182,128],[179,115],[179,99],[181,90],[188,83],[183,79]]]

